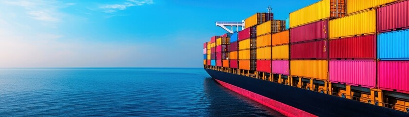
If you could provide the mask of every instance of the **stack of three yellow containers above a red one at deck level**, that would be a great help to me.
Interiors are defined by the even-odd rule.
[[[284,20],[269,20],[256,26],[256,70],[271,73],[272,34],[285,30]]]

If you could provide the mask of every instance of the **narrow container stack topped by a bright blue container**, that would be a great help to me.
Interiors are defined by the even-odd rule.
[[[230,55],[229,55],[229,60],[230,60],[230,68],[237,69],[238,64],[237,64],[237,59],[238,59],[238,33],[234,32],[232,36],[230,37]]]

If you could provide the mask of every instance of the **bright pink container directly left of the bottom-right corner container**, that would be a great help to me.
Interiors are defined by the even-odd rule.
[[[375,88],[375,60],[331,60],[329,73],[333,83]]]

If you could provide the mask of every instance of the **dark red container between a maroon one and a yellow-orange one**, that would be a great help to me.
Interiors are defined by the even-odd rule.
[[[291,44],[291,59],[327,59],[327,40]]]

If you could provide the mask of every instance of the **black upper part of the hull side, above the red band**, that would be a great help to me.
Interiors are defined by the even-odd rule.
[[[249,90],[319,117],[409,117],[409,113],[270,82],[205,69],[217,80]]]

